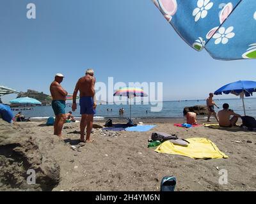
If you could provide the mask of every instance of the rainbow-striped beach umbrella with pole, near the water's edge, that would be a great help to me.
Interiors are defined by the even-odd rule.
[[[148,95],[138,87],[122,87],[118,89],[114,96],[126,96],[130,100],[130,119],[131,118],[131,99],[134,97],[147,97]]]

